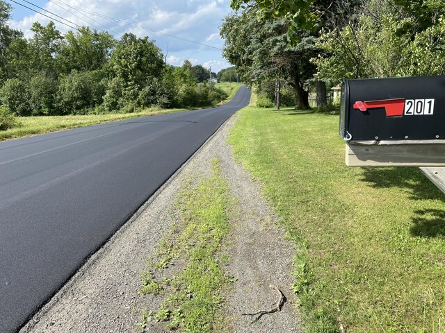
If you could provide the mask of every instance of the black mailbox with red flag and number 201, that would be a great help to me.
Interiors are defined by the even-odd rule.
[[[340,135],[353,141],[445,139],[445,76],[344,80]]]

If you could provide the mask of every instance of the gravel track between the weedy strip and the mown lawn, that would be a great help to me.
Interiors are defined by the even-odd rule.
[[[236,117],[229,119],[221,130],[220,139],[212,142],[239,206],[238,219],[233,221],[229,239],[231,245],[226,249],[232,257],[227,270],[237,279],[227,296],[229,329],[230,332],[302,332],[296,296],[290,290],[293,244],[286,239],[266,200],[261,198],[259,184],[234,162],[231,147],[226,142]],[[280,299],[277,291],[270,289],[270,284],[278,287],[286,297],[282,311],[265,314],[252,323],[254,317],[242,314],[273,309]]]

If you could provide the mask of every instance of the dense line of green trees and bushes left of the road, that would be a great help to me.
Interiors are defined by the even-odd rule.
[[[133,112],[135,108],[212,105],[227,94],[209,71],[186,60],[167,65],[148,37],[116,40],[87,26],[65,34],[35,22],[32,37],[8,26],[13,8],[0,0],[0,103],[15,116]],[[213,73],[213,77],[216,76]]]

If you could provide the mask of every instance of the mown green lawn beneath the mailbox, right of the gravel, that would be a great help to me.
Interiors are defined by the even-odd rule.
[[[300,246],[307,332],[445,332],[445,196],[414,168],[348,168],[339,118],[245,108],[229,141]]]

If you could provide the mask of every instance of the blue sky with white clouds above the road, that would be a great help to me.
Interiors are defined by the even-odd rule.
[[[219,35],[223,18],[232,12],[230,0],[14,0],[70,26],[90,26],[120,39],[124,33],[148,36],[167,55],[171,65],[188,59],[193,65],[211,66],[214,72],[231,65],[221,55],[224,41]],[[31,37],[33,22],[46,25],[50,19],[17,3],[9,24]],[[32,3],[32,4],[31,4]],[[39,6],[72,23],[63,21]],[[61,33],[74,30],[54,22]],[[193,42],[187,42],[193,41]],[[196,44],[200,43],[200,44]],[[207,46],[204,46],[205,44]],[[209,47],[213,46],[213,47]]]

